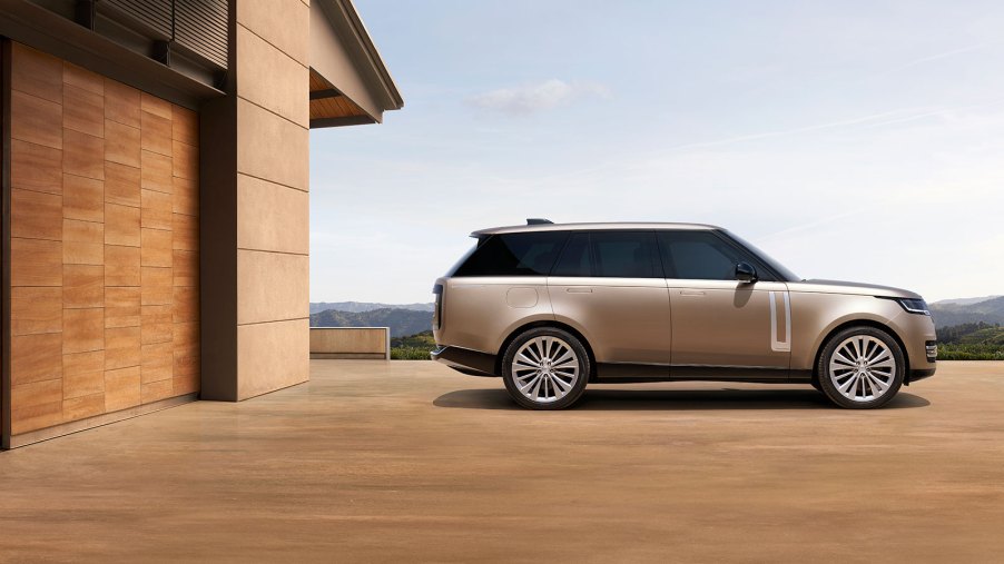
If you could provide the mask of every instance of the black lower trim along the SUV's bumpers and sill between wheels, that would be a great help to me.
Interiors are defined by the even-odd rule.
[[[443,363],[454,370],[471,376],[502,376],[499,369],[498,357],[480,350],[441,346],[433,350],[430,356],[433,360]],[[931,357],[927,360],[934,362]],[[906,378],[904,378],[904,384],[934,376],[934,373],[935,368],[911,369],[907,372]],[[764,366],[666,366],[598,363],[589,379],[600,384],[672,380],[809,384],[813,380],[813,370],[790,370],[782,367]]]

